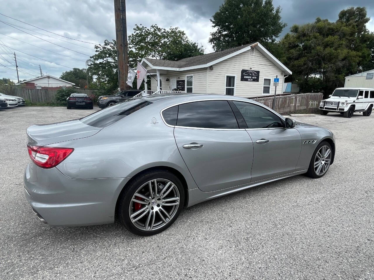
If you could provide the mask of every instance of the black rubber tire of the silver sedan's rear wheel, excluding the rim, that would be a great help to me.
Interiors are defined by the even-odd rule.
[[[145,183],[147,183],[150,180],[156,179],[156,178],[164,178],[169,181],[171,181],[179,191],[179,197],[180,202],[178,205],[178,209],[174,214],[174,217],[168,223],[163,225],[163,227],[156,229],[156,230],[141,230],[140,228],[136,227],[130,218],[129,214],[129,207],[132,200],[132,197],[134,196],[135,192]],[[131,182],[129,182],[128,186],[126,186],[126,189],[122,190],[118,203],[117,203],[117,209],[116,209],[116,219],[125,225],[125,227],[131,231],[134,234],[141,235],[141,236],[150,236],[153,234],[160,233],[161,231],[166,230],[166,228],[170,227],[174,221],[178,218],[184,204],[184,188],[181,181],[178,179],[176,175],[174,175],[172,172],[159,169],[150,171],[147,173],[143,173],[138,175],[137,177],[131,179]]]

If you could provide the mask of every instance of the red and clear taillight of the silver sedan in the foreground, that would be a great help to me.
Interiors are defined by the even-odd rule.
[[[74,151],[73,148],[40,146],[27,146],[27,149],[31,160],[42,168],[55,167]]]

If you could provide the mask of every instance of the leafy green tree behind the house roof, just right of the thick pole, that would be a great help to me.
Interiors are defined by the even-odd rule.
[[[150,28],[136,24],[128,44],[129,64],[133,67],[145,57],[180,60],[204,54],[203,47],[189,40],[183,30],[178,27],[165,29],[156,24]]]

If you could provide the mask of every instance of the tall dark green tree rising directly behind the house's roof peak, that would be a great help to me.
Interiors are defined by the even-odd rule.
[[[272,0],[225,0],[211,19],[209,42],[216,51],[260,42],[271,47],[286,24]]]

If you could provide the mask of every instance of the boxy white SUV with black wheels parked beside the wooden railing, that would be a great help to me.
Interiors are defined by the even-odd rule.
[[[329,96],[321,100],[319,111],[321,115],[329,112],[340,113],[345,118],[350,118],[355,112],[362,112],[370,116],[374,105],[374,88],[347,88],[339,87]]]

